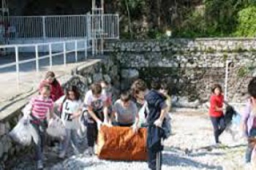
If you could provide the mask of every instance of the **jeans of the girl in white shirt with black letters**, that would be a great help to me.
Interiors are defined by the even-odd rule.
[[[69,147],[69,143],[71,144],[73,150],[75,151],[75,154],[79,152],[78,150],[78,139],[77,139],[77,130],[76,129],[66,129],[66,136],[63,141],[61,141],[60,144],[60,150],[61,152],[66,153],[67,148]]]

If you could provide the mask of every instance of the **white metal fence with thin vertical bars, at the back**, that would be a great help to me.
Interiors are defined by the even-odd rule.
[[[97,15],[11,16],[6,18],[8,38],[90,38],[92,26],[99,21],[98,18]],[[103,30],[97,35],[104,39],[118,39],[118,15],[103,15],[102,22]]]

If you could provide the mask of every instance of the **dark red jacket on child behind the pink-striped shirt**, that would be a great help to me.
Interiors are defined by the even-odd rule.
[[[42,88],[42,85],[48,83],[46,80],[42,80],[39,85],[39,89]],[[50,85],[50,98],[53,101],[58,100],[61,96],[64,95],[63,89],[61,88],[60,83],[57,81],[55,84],[48,83]]]

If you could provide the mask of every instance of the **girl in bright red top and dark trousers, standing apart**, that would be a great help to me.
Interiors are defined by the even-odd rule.
[[[219,136],[225,130],[225,121],[223,114],[224,96],[222,94],[222,87],[218,84],[211,89],[212,95],[210,99],[209,114],[211,123],[214,126],[214,139],[216,144],[219,144]]]

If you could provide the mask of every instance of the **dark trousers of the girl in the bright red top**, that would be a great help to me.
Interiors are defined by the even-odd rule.
[[[219,143],[219,136],[225,130],[225,120],[222,117],[211,117],[211,123],[214,126],[214,139],[216,143]]]

